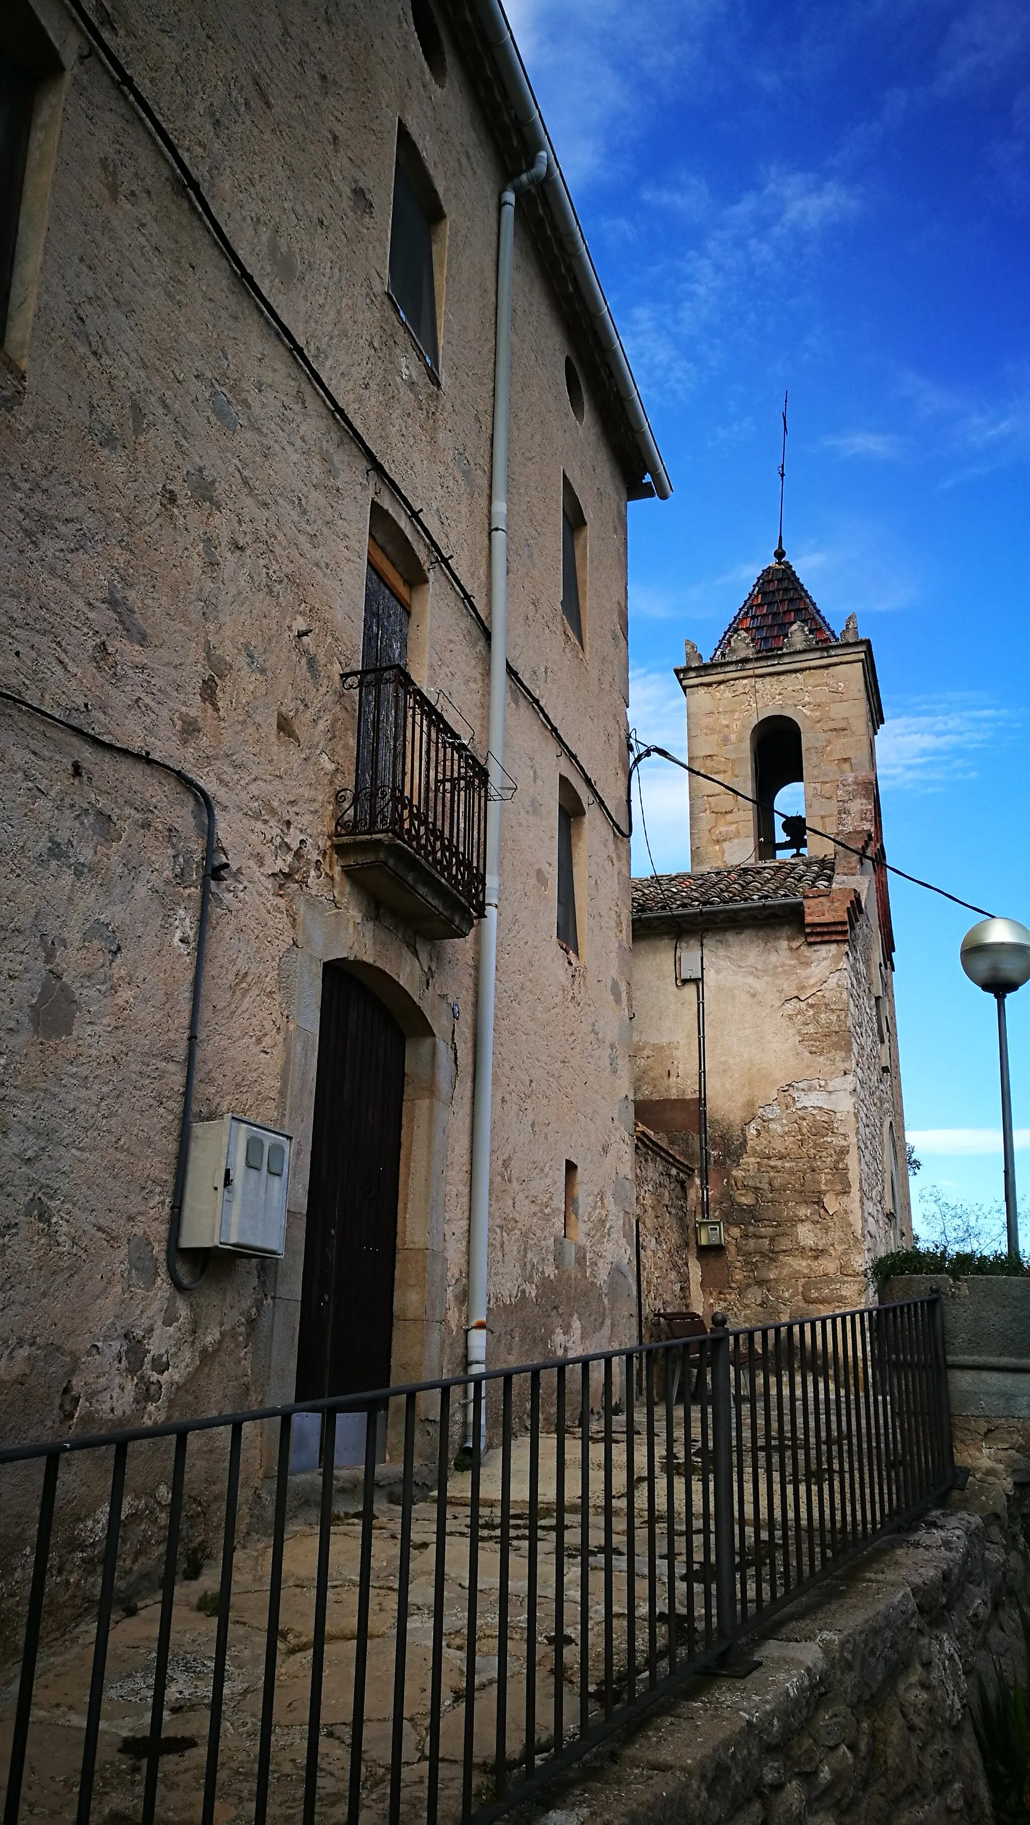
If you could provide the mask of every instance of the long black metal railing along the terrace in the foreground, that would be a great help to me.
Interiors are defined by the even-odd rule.
[[[4,1825],[152,1825],[159,1792],[205,1825],[495,1818],[953,1484],[939,1298],[491,1371],[457,1469],[466,1387],[2,1453],[38,1498]],[[110,1460],[91,1535],[58,1526],[77,1453]],[[62,1590],[97,1540],[80,1624],[58,1533]]]

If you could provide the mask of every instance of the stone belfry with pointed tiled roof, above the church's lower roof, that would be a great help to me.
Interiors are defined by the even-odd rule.
[[[690,869],[833,854],[815,830],[857,849],[880,840],[875,735],[884,721],[869,641],[855,615],[840,635],[783,546],[756,579],[705,664],[687,641],[676,677],[687,699],[690,765],[760,799],[760,808],[690,776]],[[804,819],[774,816],[783,787],[804,787]],[[853,872],[846,852],[838,867]],[[855,861],[855,871],[858,863]]]

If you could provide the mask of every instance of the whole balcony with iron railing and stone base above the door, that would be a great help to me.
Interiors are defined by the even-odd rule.
[[[340,867],[422,936],[466,938],[486,911],[486,766],[402,666],[340,683],[358,694]]]

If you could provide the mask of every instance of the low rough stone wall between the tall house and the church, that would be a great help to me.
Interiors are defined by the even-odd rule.
[[[636,1221],[639,1225],[645,1343],[667,1336],[656,1312],[701,1310],[701,1268],[694,1239],[696,1215],[696,1172],[687,1163],[678,1164],[670,1150],[637,1128]]]

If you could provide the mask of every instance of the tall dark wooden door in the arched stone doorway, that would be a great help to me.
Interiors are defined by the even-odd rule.
[[[321,978],[298,1400],[389,1385],[404,1033],[338,964]]]

